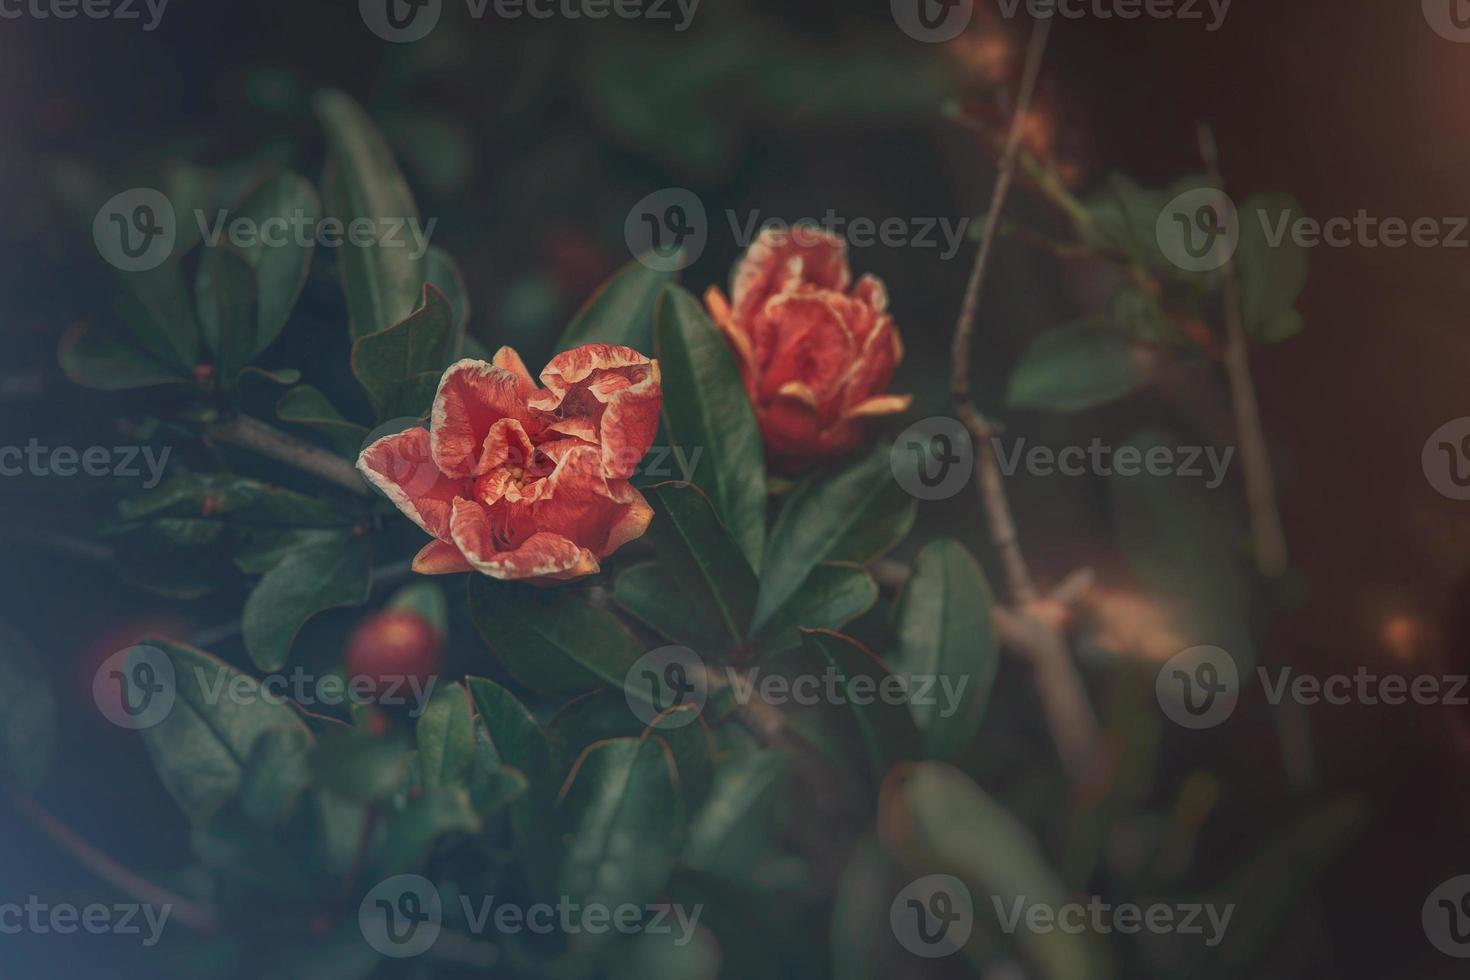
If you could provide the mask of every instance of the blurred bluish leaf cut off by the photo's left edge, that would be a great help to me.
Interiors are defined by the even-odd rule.
[[[56,758],[56,695],[35,649],[0,621],[0,777],[40,789]]]

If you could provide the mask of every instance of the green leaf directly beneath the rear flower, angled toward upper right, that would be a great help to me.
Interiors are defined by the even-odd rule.
[[[798,594],[808,586],[826,591],[831,577],[813,579],[817,566],[833,561],[866,566],[903,541],[913,527],[917,501],[889,467],[888,448],[878,447],[836,469],[804,480],[788,497],[770,532],[760,570],[756,632],[767,623],[800,619],[784,607],[819,605]]]

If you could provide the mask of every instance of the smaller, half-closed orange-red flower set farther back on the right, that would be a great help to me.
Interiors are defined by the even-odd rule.
[[[847,242],[766,229],[735,266],[731,298],[704,295],[739,363],[772,464],[797,470],[863,441],[867,419],[906,411],[886,394],[904,348],[873,276],[853,285]]]

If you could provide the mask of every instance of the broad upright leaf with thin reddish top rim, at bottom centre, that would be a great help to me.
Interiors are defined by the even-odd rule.
[[[684,801],[660,738],[589,745],[572,767],[560,810],[562,895],[607,908],[659,896],[684,837]]]

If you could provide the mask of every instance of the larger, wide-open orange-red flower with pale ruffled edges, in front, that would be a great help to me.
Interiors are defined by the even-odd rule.
[[[363,450],[363,476],[435,538],[415,572],[547,585],[594,574],[647,530],[653,508],[628,479],[659,429],[659,363],[588,344],[553,357],[541,383],[509,347],[462,360],[428,429]]]

